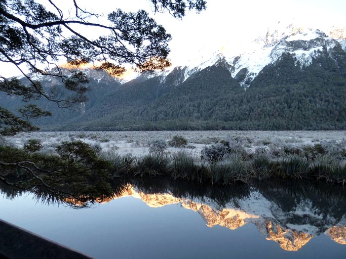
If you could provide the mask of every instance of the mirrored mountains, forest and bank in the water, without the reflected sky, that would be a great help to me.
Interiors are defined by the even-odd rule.
[[[251,185],[212,186],[169,179],[120,179],[113,181],[113,194],[98,197],[50,193],[45,188],[31,188],[42,202],[65,203],[75,208],[93,202],[133,196],[150,207],[181,204],[198,212],[208,227],[230,230],[247,223],[284,250],[296,251],[314,236],[325,233],[339,244],[346,244],[346,191],[335,185],[314,182],[253,182]],[[1,185],[7,197],[24,190]]]

